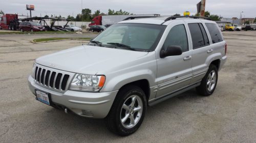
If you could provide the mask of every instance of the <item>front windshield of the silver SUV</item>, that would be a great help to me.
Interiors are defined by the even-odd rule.
[[[120,43],[135,50],[153,51],[164,30],[165,25],[140,24],[140,23],[120,23],[106,28],[93,41],[98,41],[102,45],[110,43]]]

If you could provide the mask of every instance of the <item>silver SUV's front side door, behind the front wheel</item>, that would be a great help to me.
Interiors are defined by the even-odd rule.
[[[192,52],[189,50],[186,27],[184,21],[176,21],[173,26],[166,28],[169,33],[162,48],[180,46],[182,54],[157,59],[157,97],[168,95],[190,84]]]

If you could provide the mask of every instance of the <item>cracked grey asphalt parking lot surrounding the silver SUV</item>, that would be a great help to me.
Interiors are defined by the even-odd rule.
[[[224,32],[228,59],[212,96],[190,90],[148,107],[139,130],[126,137],[109,132],[104,120],[39,103],[29,91],[36,58],[84,43],[30,41],[71,36],[96,34],[0,35],[0,142],[256,142],[256,31]]]

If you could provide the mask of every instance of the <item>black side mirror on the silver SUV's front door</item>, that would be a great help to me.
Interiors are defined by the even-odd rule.
[[[162,49],[160,51],[160,58],[165,58],[166,56],[181,55],[182,50],[180,46],[168,46],[166,50]]]

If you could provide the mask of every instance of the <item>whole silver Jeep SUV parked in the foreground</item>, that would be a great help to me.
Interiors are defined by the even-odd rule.
[[[126,18],[88,45],[35,60],[36,100],[134,133],[147,106],[196,88],[211,95],[227,44],[214,21],[198,17]]]

